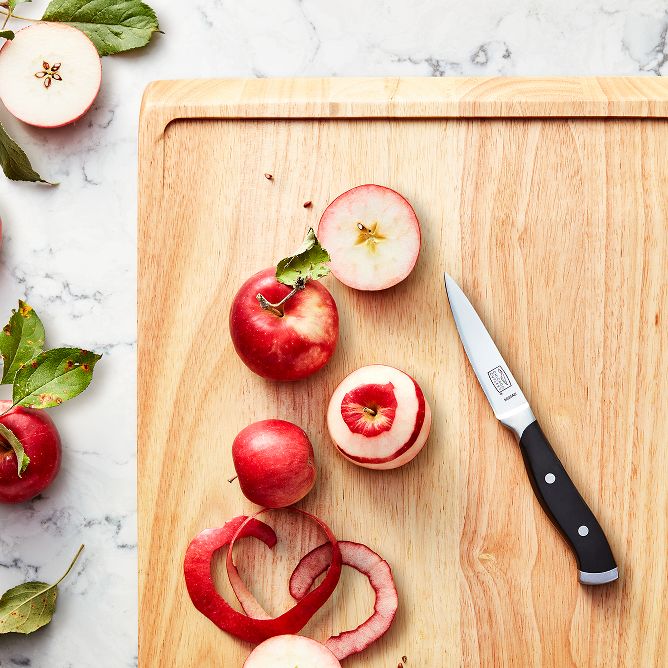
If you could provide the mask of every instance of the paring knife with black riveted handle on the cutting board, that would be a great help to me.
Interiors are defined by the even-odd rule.
[[[541,431],[531,407],[471,302],[447,273],[445,289],[459,337],[494,415],[515,432],[533,490],[568,541],[583,584],[618,577],[608,540]]]

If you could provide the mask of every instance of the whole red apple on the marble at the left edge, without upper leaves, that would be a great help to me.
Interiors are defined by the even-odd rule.
[[[4,413],[11,401],[0,401]],[[60,437],[53,420],[33,408],[13,408],[0,417],[3,424],[21,441],[30,457],[28,468],[19,478],[16,454],[0,436],[0,503],[28,501],[44,491],[60,469]]]

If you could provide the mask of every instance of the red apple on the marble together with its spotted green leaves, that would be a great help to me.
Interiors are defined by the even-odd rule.
[[[25,302],[0,332],[2,384],[11,400],[0,401],[0,503],[34,498],[60,468],[60,437],[42,409],[59,406],[90,384],[101,355],[80,348],[44,351],[44,326]]]

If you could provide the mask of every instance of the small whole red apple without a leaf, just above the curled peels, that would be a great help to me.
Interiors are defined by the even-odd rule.
[[[232,459],[241,491],[260,506],[290,506],[315,483],[313,447],[292,422],[261,420],[242,429],[232,443]]]

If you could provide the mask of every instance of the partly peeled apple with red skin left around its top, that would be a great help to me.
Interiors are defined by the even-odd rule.
[[[327,426],[339,452],[350,461],[371,469],[393,469],[424,446],[431,409],[408,374],[373,364],[353,371],[336,388]]]

